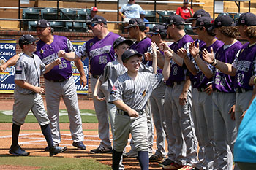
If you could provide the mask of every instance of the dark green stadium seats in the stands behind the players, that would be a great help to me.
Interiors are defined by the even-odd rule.
[[[146,11],[146,19],[149,22],[165,23],[168,16],[175,14],[175,11]],[[54,31],[76,31],[76,32],[86,32],[88,27],[86,23],[81,22],[64,22],[58,20],[83,20],[86,21],[86,16],[90,15],[90,9],[70,9],[64,8],[60,9],[60,12],[56,8],[45,8],[45,9],[35,9],[27,8],[23,9],[23,19],[32,19],[34,21],[24,21],[23,30],[35,31],[37,20],[56,20],[51,21],[50,25],[54,28]],[[230,15],[231,18],[236,22],[241,14],[231,14],[231,13],[220,13],[219,15]],[[153,28],[155,24],[149,24],[149,28]],[[187,34],[194,34],[191,30],[191,25],[187,24],[185,26],[185,31]]]

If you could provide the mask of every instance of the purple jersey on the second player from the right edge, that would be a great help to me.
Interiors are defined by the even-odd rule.
[[[215,54],[215,58],[223,63],[233,63],[236,58],[236,54],[241,49],[241,42],[235,42],[230,47],[225,48],[225,45],[219,48]],[[225,93],[234,93],[234,81],[235,77],[222,73],[219,69],[215,69],[214,74],[214,83],[212,88],[214,90],[218,89],[219,91]]]

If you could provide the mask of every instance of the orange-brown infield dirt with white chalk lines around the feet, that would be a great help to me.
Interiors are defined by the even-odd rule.
[[[111,154],[91,154],[89,151],[99,146],[99,136],[97,134],[97,123],[83,123],[85,135],[84,144],[86,144],[86,150],[77,150],[72,147],[72,139],[70,136],[69,123],[61,123],[61,146],[67,146],[68,150],[58,156],[67,158],[94,158],[97,161],[111,165]],[[0,123],[0,156],[9,155],[8,151],[11,144],[11,130],[12,123]],[[45,139],[42,136],[40,127],[37,123],[25,123],[21,127],[19,144],[22,144],[24,150],[30,152],[33,156],[48,156],[49,153],[44,149],[47,146]],[[154,149],[155,146],[154,139]],[[129,147],[127,147],[127,151]],[[139,162],[135,158],[124,159],[124,166],[126,169],[140,169]],[[39,169],[38,167],[24,167],[24,166],[0,166],[0,169]],[[150,163],[150,169],[161,169],[158,163]]]

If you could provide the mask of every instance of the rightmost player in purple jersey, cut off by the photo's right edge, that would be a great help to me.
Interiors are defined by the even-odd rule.
[[[234,88],[236,90],[236,126],[239,127],[241,118],[244,116],[249,104],[255,98],[255,88],[249,85],[250,77],[256,75],[256,36],[253,33],[256,30],[256,16],[252,13],[243,13],[238,18],[238,31],[241,37],[248,40],[241,47],[232,64],[223,63],[214,56],[209,55],[205,58],[208,63],[212,63],[217,69],[225,74],[235,76]]]

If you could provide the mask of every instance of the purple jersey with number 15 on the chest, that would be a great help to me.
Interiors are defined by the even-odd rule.
[[[115,51],[113,42],[119,37],[118,34],[109,32],[104,39],[98,39],[95,36],[93,39],[85,42],[80,50],[75,54],[80,58],[90,59],[90,72],[92,75],[100,75],[103,73],[106,64],[115,60]]]

